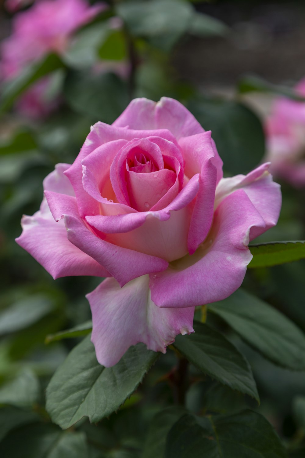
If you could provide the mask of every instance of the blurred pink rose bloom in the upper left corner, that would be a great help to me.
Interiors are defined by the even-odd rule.
[[[105,3],[90,6],[86,0],[41,0],[13,18],[13,33],[1,43],[1,79],[11,80],[27,65],[51,52],[62,54],[72,34],[107,8]],[[58,105],[46,101],[52,76],[35,83],[23,96],[17,108],[33,118],[44,116]]]

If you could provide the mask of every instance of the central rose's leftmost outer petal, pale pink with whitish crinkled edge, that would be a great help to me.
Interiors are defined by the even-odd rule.
[[[45,198],[38,212],[23,216],[21,225],[22,234],[16,242],[54,279],[78,275],[110,276],[98,262],[68,240],[64,221],[54,221]]]

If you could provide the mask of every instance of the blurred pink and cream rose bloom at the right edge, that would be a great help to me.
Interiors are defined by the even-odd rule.
[[[295,90],[305,97],[305,79]],[[267,160],[272,173],[297,188],[305,187],[305,102],[277,98],[265,125]]]

